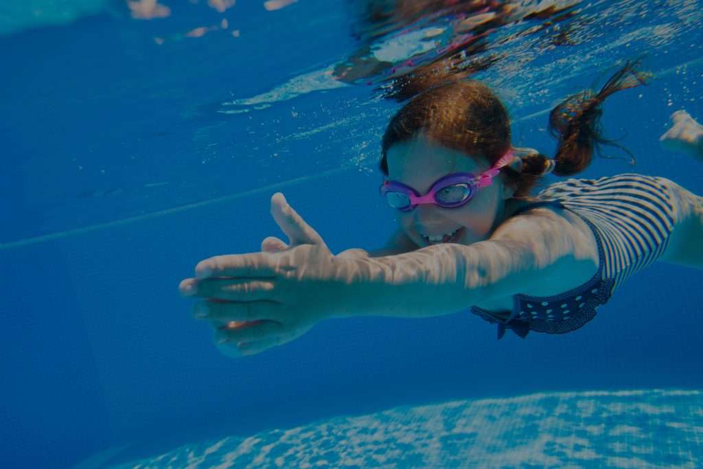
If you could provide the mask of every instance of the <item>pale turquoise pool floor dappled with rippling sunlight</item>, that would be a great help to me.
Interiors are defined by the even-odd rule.
[[[194,442],[114,469],[699,468],[703,392],[541,392]]]

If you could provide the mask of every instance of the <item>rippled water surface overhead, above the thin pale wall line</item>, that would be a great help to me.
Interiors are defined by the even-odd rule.
[[[447,77],[484,80],[540,128],[555,101],[644,56],[679,85],[654,101],[700,106],[698,0],[400,3],[7,3],[3,195],[25,223],[0,246],[371,172],[395,101]],[[64,26],[32,29],[46,25]]]

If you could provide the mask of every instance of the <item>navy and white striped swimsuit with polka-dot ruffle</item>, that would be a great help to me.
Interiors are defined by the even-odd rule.
[[[479,307],[471,312],[498,323],[498,339],[510,329],[524,338],[530,330],[561,334],[595,317],[626,278],[656,261],[666,250],[674,225],[666,179],[619,174],[600,179],[567,179],[537,195],[535,207],[560,207],[575,213],[593,231],[598,244],[598,271],[583,285],[560,295],[514,295],[510,315]]]

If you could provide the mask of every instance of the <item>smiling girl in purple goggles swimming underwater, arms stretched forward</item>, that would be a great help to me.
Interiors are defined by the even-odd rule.
[[[381,193],[398,212],[385,248],[333,255],[288,205],[271,214],[289,243],[211,257],[181,282],[201,297],[229,355],[257,354],[323,319],[472,313],[524,338],[591,321],[628,276],[654,261],[703,267],[703,198],[657,176],[568,179],[531,197],[545,174],[576,174],[602,143],[600,105],[647,76],[627,63],[600,92],[567,98],[550,115],[553,159],[513,148],[505,107],[479,82],[425,91],[389,122]]]

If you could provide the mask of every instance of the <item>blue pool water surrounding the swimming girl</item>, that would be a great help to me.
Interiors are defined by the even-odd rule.
[[[181,278],[282,236],[277,191],[333,252],[394,231],[390,72],[335,67],[456,37],[418,37],[441,15],[370,37],[364,3],[2,2],[1,467],[703,465],[699,270],[655,264],[584,328],[525,340],[468,311],[336,319],[234,360],[191,318]],[[659,146],[673,111],[703,122],[703,1],[512,3],[472,77],[515,146],[551,154],[553,105],[642,57],[654,78],[603,117],[636,165],[607,148],[579,177],[703,194],[702,162]],[[569,14],[529,16],[550,6]]]

